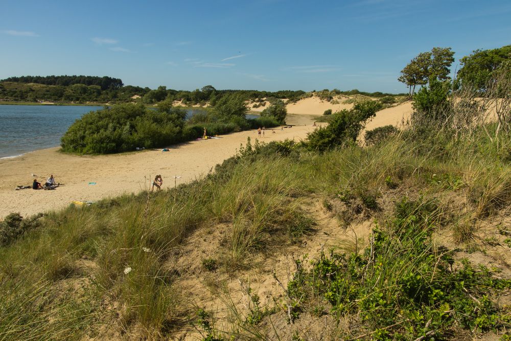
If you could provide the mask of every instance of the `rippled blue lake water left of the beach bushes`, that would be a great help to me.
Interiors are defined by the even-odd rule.
[[[58,147],[67,128],[100,106],[0,105],[0,158]],[[188,110],[194,115],[200,109]],[[247,115],[247,118],[257,116]]]

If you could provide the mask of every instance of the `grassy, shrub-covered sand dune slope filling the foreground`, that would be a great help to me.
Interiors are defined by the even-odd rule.
[[[177,188],[8,216],[0,339],[509,340],[507,67],[430,79],[366,146],[379,101]]]

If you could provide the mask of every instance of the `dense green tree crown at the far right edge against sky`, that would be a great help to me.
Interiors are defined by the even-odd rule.
[[[499,65],[511,59],[511,45],[493,50],[475,50],[471,55],[461,58],[461,69],[458,79],[464,84],[470,84],[478,90],[486,90],[486,85],[492,78],[492,73]]]

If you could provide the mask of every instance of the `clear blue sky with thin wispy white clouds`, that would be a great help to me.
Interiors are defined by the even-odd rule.
[[[509,0],[0,3],[0,79],[93,75],[193,90],[406,92],[418,53],[511,44]]]

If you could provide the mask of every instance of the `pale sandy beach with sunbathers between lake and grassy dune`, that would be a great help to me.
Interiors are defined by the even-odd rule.
[[[379,111],[367,128],[399,125],[403,116],[409,115],[409,111],[409,103]],[[307,133],[315,129],[312,126],[314,117],[288,115],[287,122],[295,126],[283,130],[275,128],[275,133],[266,130],[261,140],[305,139]],[[178,184],[204,176],[216,164],[233,156],[248,137],[253,141],[258,137],[257,131],[242,131],[222,135],[219,139],[183,143],[171,146],[169,152],[158,149],[77,156],[61,153],[56,147],[3,159],[0,160],[0,218],[10,212],[19,212],[25,216],[62,209],[72,201],[94,202],[123,193],[138,192],[149,188],[156,174],[161,174],[164,179],[163,188],[173,187],[174,176],[180,176]],[[18,185],[31,185],[34,178],[44,183],[50,174],[55,176],[57,182],[65,185],[53,191],[14,190]]]

